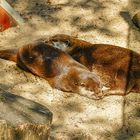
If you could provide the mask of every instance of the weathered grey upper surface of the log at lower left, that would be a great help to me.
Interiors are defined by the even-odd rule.
[[[40,121],[41,123],[46,123],[48,121],[49,124],[52,119],[52,114],[46,107],[7,92],[1,87],[0,100],[2,108],[0,118],[8,121],[12,126],[24,121],[26,123],[39,123]],[[41,111],[44,111],[44,113],[41,113]]]

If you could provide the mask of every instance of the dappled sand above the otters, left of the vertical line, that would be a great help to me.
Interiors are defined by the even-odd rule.
[[[20,47],[41,36],[57,33],[74,33],[92,43],[127,45],[128,24],[119,16],[127,1],[54,0],[49,5],[45,0],[11,0],[11,3],[25,18],[26,24],[0,34],[6,40],[0,41],[1,46]]]

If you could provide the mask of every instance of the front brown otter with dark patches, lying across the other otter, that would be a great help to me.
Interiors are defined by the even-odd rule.
[[[97,97],[102,93],[100,78],[96,74],[67,53],[46,43],[36,42],[17,50],[1,50],[0,58],[16,62],[20,68],[46,79],[52,87],[62,91],[78,92],[79,86],[84,86]]]

